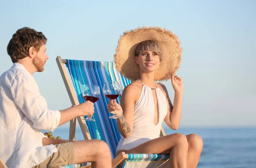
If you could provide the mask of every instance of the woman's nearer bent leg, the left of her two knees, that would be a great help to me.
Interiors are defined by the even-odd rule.
[[[127,154],[170,154],[171,168],[186,168],[188,156],[188,141],[180,133],[170,134],[149,140],[140,146],[132,148]]]

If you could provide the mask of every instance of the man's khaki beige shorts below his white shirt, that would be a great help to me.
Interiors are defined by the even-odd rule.
[[[74,163],[74,145],[73,142],[61,143],[55,145],[57,152],[48,157],[44,162],[33,168],[54,168],[58,165],[70,165]]]

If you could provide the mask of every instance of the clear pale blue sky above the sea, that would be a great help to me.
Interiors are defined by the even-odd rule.
[[[256,1],[0,1],[0,74],[17,29],[42,31],[49,60],[33,76],[49,109],[71,106],[55,58],[113,61],[119,36],[142,26],[166,28],[183,48],[180,126],[256,126]],[[171,81],[164,81],[173,101]],[[68,123],[65,124],[68,126]]]

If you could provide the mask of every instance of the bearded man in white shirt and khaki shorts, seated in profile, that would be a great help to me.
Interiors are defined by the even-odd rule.
[[[7,52],[14,63],[0,76],[0,157],[8,168],[52,168],[57,165],[92,162],[95,168],[111,168],[108,145],[100,140],[52,140],[41,130],[51,130],[67,121],[93,115],[86,101],[65,110],[50,110],[32,77],[42,72],[49,59],[42,32],[21,28],[12,36]]]

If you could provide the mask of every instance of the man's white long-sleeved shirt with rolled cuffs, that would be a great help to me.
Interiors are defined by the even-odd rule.
[[[53,131],[60,118],[23,65],[14,63],[0,76],[0,157],[8,168],[32,168],[56,152],[43,146],[41,129]]]

